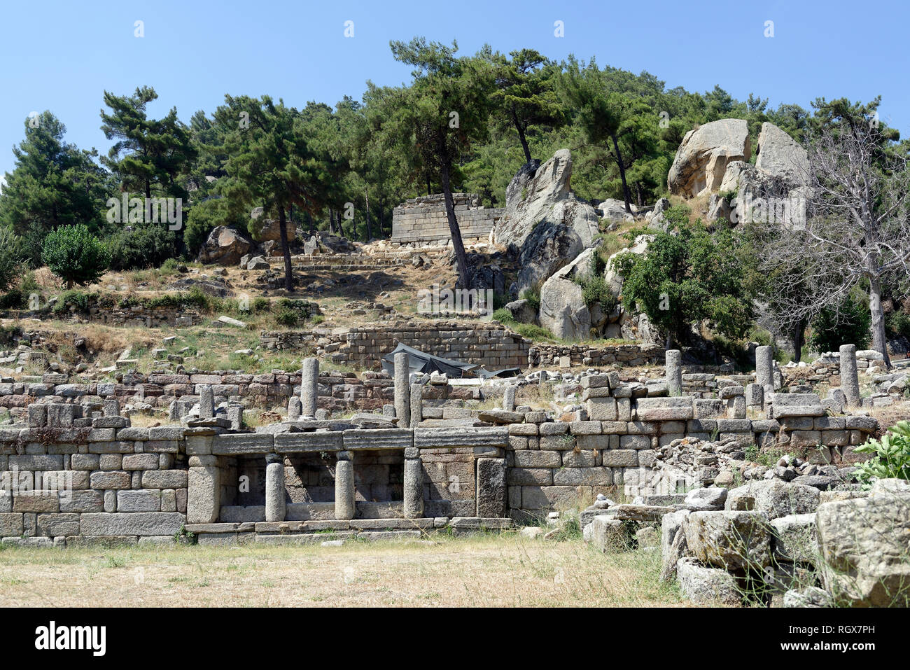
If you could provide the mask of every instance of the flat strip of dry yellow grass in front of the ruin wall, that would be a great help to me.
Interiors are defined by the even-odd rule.
[[[341,547],[7,548],[22,606],[677,606],[657,551],[604,555],[517,535]]]

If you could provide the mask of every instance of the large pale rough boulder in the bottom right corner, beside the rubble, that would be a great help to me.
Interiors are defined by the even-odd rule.
[[[825,590],[864,607],[910,605],[910,495],[875,492],[815,515]]]

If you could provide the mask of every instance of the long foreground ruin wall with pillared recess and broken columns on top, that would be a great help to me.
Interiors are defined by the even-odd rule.
[[[179,424],[157,427],[121,415],[116,384],[96,384],[108,397],[82,404],[74,401],[85,399],[77,385],[60,384],[53,388],[61,395],[27,405],[27,423],[0,427],[0,536],[147,543],[194,533],[199,543],[306,543],[326,532],[378,538],[502,529],[579,499],[617,491],[679,496],[723,482],[716,453],[715,460],[700,454],[709,458],[696,476],[668,478],[660,465],[672,460],[668,447],[714,440],[729,445],[728,461],[756,445],[798,449],[822,469],[794,474],[808,478],[796,483],[836,488],[835,473],[824,468],[849,469],[859,460],[854,447],[877,422],[841,414],[855,400],[850,379],[843,404],[773,392],[769,361],[760,351],[760,382],[725,387],[716,399],[677,394],[680,357],[669,351],[662,388],[595,373],[581,378],[583,405],[568,415],[516,407],[514,386],[501,409],[472,415],[425,404],[441,387],[425,383],[430,375],[409,376],[402,353],[383,387],[393,402],[381,414],[334,419],[319,408],[319,362],[308,359],[287,419],[255,431],[243,427],[239,404],[216,405],[229,389],[203,378],[195,402],[172,405]],[[851,374],[843,360],[841,371]],[[223,381],[208,381],[216,380]]]

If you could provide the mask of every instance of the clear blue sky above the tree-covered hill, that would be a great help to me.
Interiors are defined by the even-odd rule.
[[[803,5],[803,6],[800,6]],[[145,36],[136,37],[135,22]],[[344,36],[353,21],[354,36]],[[564,36],[554,36],[562,21]],[[773,21],[773,37],[765,22]],[[597,56],[601,65],[648,70],[668,87],[734,97],[753,92],[771,106],[804,107],[816,96],[867,101],[910,137],[910,3],[794,2],[6,2],[0,9],[0,175],[32,111],[50,109],[66,139],[105,152],[99,129],[103,91],[154,86],[149,107],[177,107],[188,121],[211,112],[225,93],[334,104],[360,97],[364,82],[407,81],[410,68],[389,53],[390,39],[426,36],[462,53],[484,43],[508,52],[527,46],[560,60]]]

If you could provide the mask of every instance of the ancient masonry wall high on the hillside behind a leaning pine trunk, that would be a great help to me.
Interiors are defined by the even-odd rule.
[[[489,238],[493,224],[505,211],[480,207],[480,196],[453,193],[455,217],[465,244]],[[442,195],[410,198],[392,210],[392,244],[437,244],[450,242],[449,219]]]

